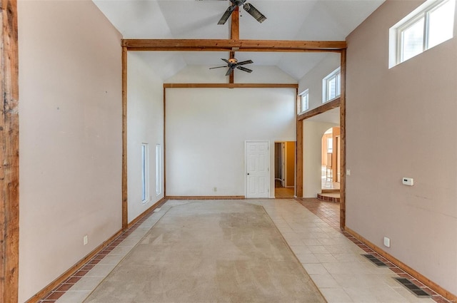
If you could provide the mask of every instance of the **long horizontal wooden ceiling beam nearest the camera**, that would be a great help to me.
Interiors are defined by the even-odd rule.
[[[346,41],[289,41],[238,39],[124,39],[129,51],[341,51]]]

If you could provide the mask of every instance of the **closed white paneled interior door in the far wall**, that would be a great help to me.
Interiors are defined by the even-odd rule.
[[[269,145],[268,141],[246,142],[246,197],[268,197]]]

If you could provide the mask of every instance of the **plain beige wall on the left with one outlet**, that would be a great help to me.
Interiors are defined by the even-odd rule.
[[[91,1],[19,1],[19,302],[121,229],[120,39]]]

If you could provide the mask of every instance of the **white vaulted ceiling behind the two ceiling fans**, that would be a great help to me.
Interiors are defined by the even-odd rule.
[[[230,38],[230,19],[218,25],[229,0],[93,0],[124,38]],[[240,9],[240,38],[343,41],[384,0],[247,0],[267,19],[259,24]],[[141,53],[169,78],[185,66],[220,66],[224,52]],[[236,53],[239,61],[277,66],[299,81],[324,53]],[[174,61],[171,63],[170,61]],[[222,64],[221,64],[222,63]]]

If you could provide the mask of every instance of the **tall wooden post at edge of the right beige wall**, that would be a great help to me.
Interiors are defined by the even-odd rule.
[[[346,49],[341,50],[341,175],[340,175],[340,228],[346,227]]]

